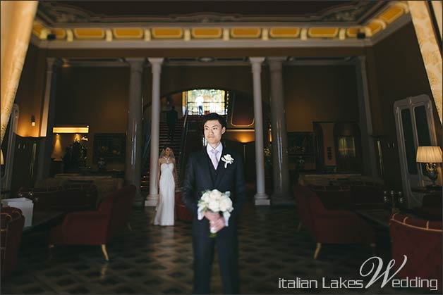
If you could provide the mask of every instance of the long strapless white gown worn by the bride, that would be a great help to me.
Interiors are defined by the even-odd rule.
[[[174,225],[175,188],[174,163],[160,165],[159,203],[154,217],[154,225]]]

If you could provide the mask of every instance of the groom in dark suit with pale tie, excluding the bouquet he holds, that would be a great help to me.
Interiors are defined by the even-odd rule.
[[[243,160],[236,151],[222,145],[226,121],[217,113],[203,119],[207,146],[191,153],[183,181],[183,202],[193,212],[194,287],[193,294],[209,294],[214,246],[217,245],[224,294],[239,293],[237,219],[245,201]],[[232,163],[222,161],[230,154]],[[198,200],[207,189],[231,192],[233,211],[229,220],[219,213],[198,213]],[[217,237],[210,237],[210,227]]]

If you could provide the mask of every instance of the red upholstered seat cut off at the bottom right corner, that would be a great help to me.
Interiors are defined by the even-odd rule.
[[[442,294],[442,221],[408,218],[396,213],[389,220],[389,232],[395,265],[401,265],[404,255],[408,258],[398,275],[438,280],[439,294]]]

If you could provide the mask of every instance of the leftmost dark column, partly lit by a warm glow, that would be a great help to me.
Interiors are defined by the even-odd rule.
[[[52,127],[55,121],[57,73],[61,61],[58,58],[47,58],[46,84],[44,86],[44,104],[40,123],[40,142],[38,155],[37,180],[49,177],[51,172],[51,154],[54,149]]]

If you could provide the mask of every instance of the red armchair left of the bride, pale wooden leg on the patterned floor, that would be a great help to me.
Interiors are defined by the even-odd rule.
[[[49,248],[54,244],[101,245],[109,261],[107,242],[128,225],[135,186],[130,185],[104,197],[97,211],[68,213],[63,223],[49,232]]]

